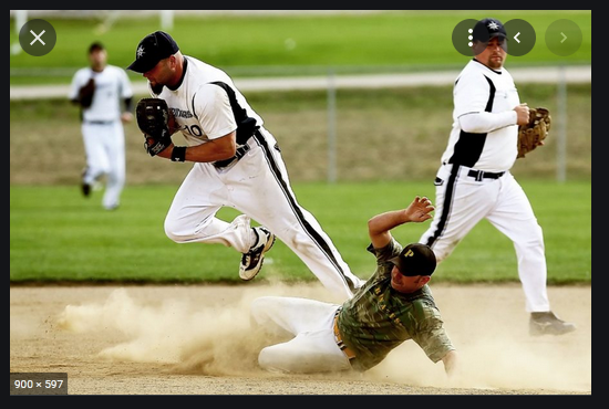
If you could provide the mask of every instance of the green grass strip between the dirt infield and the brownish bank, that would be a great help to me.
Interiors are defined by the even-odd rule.
[[[526,181],[523,186],[544,228],[550,284],[591,282],[591,182]],[[101,192],[82,198],[76,186],[11,187],[10,280],[240,282],[240,254],[218,244],[177,244],[163,221],[175,186],[128,187],[122,207],[107,212]],[[433,198],[429,182],[298,183],[295,191],[330,234],[352,271],[368,277],[374,260],[365,251],[370,217],[407,204],[414,195]],[[219,217],[237,214],[223,209]],[[402,243],[429,223],[398,228]],[[316,280],[280,241],[259,279]],[[508,239],[486,221],[438,268],[435,282],[517,282]]]

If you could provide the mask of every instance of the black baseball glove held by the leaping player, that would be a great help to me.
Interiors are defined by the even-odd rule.
[[[142,98],[135,107],[135,117],[140,130],[146,140],[144,147],[151,156],[158,155],[172,145],[169,122],[172,115],[165,99]]]

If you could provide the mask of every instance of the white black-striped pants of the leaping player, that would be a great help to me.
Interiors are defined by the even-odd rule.
[[[184,179],[165,219],[165,232],[178,243],[220,243],[249,251],[249,218],[267,227],[341,300],[363,281],[351,273],[317,219],[297,201],[275,137],[261,128],[249,138],[250,150],[235,165],[218,169],[197,162]],[[231,223],[216,218],[221,207],[246,216]]]

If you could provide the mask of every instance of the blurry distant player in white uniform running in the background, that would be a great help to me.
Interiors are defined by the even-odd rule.
[[[133,91],[126,72],[118,66],[106,64],[106,50],[100,42],[91,44],[91,66],[76,71],[69,98],[82,107],[81,129],[86,156],[82,192],[89,197],[92,187],[105,176],[102,204],[107,210],[114,210],[121,203],[121,193],[125,185],[123,123],[133,119]],[[89,101],[85,102],[81,90],[86,87],[87,83]]]

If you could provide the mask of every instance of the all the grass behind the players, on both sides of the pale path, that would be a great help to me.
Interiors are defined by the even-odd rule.
[[[462,67],[468,57],[453,48],[454,27],[494,15],[526,19],[537,32],[533,51],[506,65],[591,63],[591,11],[388,11],[374,14],[283,17],[176,17],[171,33],[186,54],[233,76],[309,75],[355,72],[433,71]],[[551,54],[544,33],[555,20],[582,30],[580,49]],[[10,85],[66,84],[86,65],[86,49],[101,40],[109,62],[128,65],[137,42],[159,29],[157,17],[49,19],[58,31],[53,51],[42,57],[10,56]],[[10,21],[10,42],[17,41]],[[141,76],[130,73],[133,80]],[[518,86],[529,105],[557,107],[557,86]],[[339,182],[327,175],[326,92],[250,93],[252,107],[278,138],[300,202],[319,219],[355,274],[367,277],[374,260],[365,251],[367,221],[405,206],[414,195],[433,195],[433,175],[451,122],[450,87],[341,90],[337,93]],[[591,84],[568,86],[568,182],[555,182],[556,139],[518,160],[546,238],[550,284],[591,281]],[[306,124],[306,126],[303,126]],[[415,148],[412,148],[415,147]],[[176,244],[163,231],[165,212],[188,171],[151,159],[135,124],[126,127],[127,187],[115,212],[100,206],[101,192],[85,200],[79,191],[84,155],[78,109],[64,99],[10,103],[10,280],[240,282],[239,254],[220,245]],[[348,206],[345,206],[348,204]],[[223,209],[231,219],[236,213]],[[425,224],[426,226],[426,224]],[[395,231],[402,242],[425,229]],[[481,248],[484,247],[484,251]],[[268,254],[257,280],[314,280],[282,243]],[[517,282],[512,243],[481,223],[446,260],[436,282]]]

